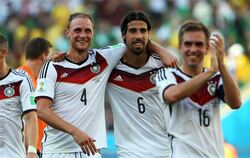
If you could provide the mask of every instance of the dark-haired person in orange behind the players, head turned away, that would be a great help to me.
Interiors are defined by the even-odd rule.
[[[46,61],[49,54],[49,50],[52,47],[51,43],[42,38],[37,37],[31,39],[25,46],[25,64],[21,65],[18,68],[19,72],[28,75],[32,79],[33,86],[37,85],[37,77],[42,67],[42,64]],[[41,142],[43,138],[43,130],[46,127],[46,124],[38,119],[38,141],[37,149],[41,151]]]

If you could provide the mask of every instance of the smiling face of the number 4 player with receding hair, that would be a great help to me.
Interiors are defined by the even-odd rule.
[[[70,40],[70,49],[79,54],[86,52],[94,36],[93,24],[87,17],[73,19],[66,30],[66,36]]]

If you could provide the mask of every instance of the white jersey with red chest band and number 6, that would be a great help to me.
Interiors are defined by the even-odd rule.
[[[169,157],[166,106],[162,105],[155,85],[160,67],[160,60],[151,56],[141,68],[120,62],[111,73],[107,95],[119,158]]]

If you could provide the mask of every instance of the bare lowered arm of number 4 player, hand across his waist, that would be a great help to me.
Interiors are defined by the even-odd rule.
[[[45,121],[49,126],[70,134],[75,142],[82,148],[82,151],[90,155],[97,153],[96,146],[91,137],[86,133],[81,131],[79,128],[73,126],[72,124],[64,121],[59,117],[54,111],[51,110],[52,101],[48,98],[39,98],[37,100],[37,112],[38,117]]]

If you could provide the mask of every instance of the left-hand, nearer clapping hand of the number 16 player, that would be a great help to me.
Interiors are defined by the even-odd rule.
[[[218,71],[218,59],[217,59],[217,49],[213,40],[209,41],[209,47],[211,52],[211,61],[210,61],[210,71],[212,74],[215,74]]]

